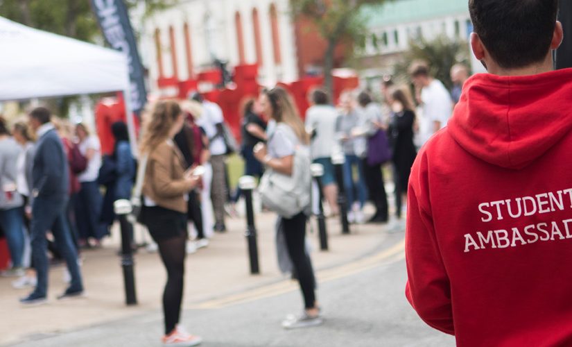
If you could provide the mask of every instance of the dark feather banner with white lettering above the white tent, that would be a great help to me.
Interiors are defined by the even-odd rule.
[[[123,0],[92,0],[92,8],[105,40],[113,49],[122,51],[128,58],[131,106],[133,111],[139,115],[147,101],[147,93],[144,69],[125,3]]]

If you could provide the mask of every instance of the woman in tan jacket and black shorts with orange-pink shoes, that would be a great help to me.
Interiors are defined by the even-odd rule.
[[[178,326],[181,312],[184,257],[187,241],[187,202],[184,196],[200,180],[184,171],[184,159],[173,142],[184,117],[175,101],[159,101],[147,119],[141,153],[148,156],[143,185],[143,221],[159,246],[167,271],[163,293],[164,346],[196,346],[201,339]]]

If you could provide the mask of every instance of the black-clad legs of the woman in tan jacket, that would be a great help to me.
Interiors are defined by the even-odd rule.
[[[186,237],[172,237],[157,243],[161,260],[167,270],[167,284],[163,291],[165,335],[175,329],[181,316],[186,242]]]

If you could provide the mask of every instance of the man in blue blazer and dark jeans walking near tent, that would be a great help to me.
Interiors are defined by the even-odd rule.
[[[65,210],[69,190],[69,169],[62,140],[51,124],[47,108],[35,108],[29,115],[30,125],[38,141],[33,164],[34,201],[32,205],[32,255],[37,272],[37,286],[24,305],[46,303],[48,290],[48,257],[46,232],[51,231],[58,250],[62,253],[71,275],[71,284],[58,299],[83,296],[83,284],[78,266],[78,255],[73,247]]]

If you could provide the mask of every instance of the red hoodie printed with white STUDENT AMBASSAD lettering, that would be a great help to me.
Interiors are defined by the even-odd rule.
[[[572,69],[479,74],[408,193],[406,296],[459,346],[572,346]]]

